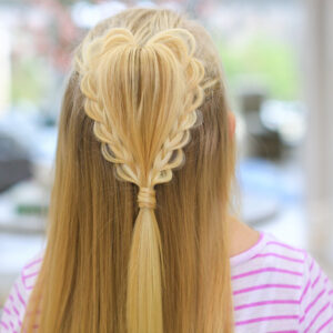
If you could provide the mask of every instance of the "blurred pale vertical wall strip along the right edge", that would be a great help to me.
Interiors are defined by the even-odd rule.
[[[310,248],[333,263],[333,1],[306,0],[305,143]],[[332,253],[332,254],[331,254]]]

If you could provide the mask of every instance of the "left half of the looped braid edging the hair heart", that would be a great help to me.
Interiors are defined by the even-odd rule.
[[[99,38],[88,44],[83,42],[82,60],[77,57],[77,68],[82,75],[80,88],[85,95],[85,113],[94,121],[93,132],[101,142],[103,157],[108,161],[115,163],[117,175],[120,180],[140,185],[138,170],[135,170],[133,164],[133,154],[124,145],[124,134],[127,133],[118,131],[118,119],[112,113],[107,113],[99,90],[97,89],[98,78],[95,69],[98,63],[104,60],[103,56],[105,56],[112,42],[113,48],[130,48],[134,46],[133,36],[125,29],[112,29],[104,38]]]

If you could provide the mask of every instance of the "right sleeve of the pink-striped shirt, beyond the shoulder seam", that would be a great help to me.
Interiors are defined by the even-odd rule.
[[[300,307],[301,332],[333,332],[333,285],[309,253],[305,255]]]

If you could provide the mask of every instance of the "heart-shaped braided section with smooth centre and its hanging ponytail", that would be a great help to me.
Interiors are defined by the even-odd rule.
[[[128,271],[129,333],[163,332],[163,256],[154,185],[169,182],[203,102],[203,64],[184,29],[153,37],[111,29],[89,36],[77,58],[84,110],[119,180],[139,186]]]

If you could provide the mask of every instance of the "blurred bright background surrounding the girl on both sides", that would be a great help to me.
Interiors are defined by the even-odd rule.
[[[311,251],[333,279],[333,1],[0,0],[0,307],[44,246],[72,51],[132,6],[186,12],[211,32],[236,115],[243,221]]]

